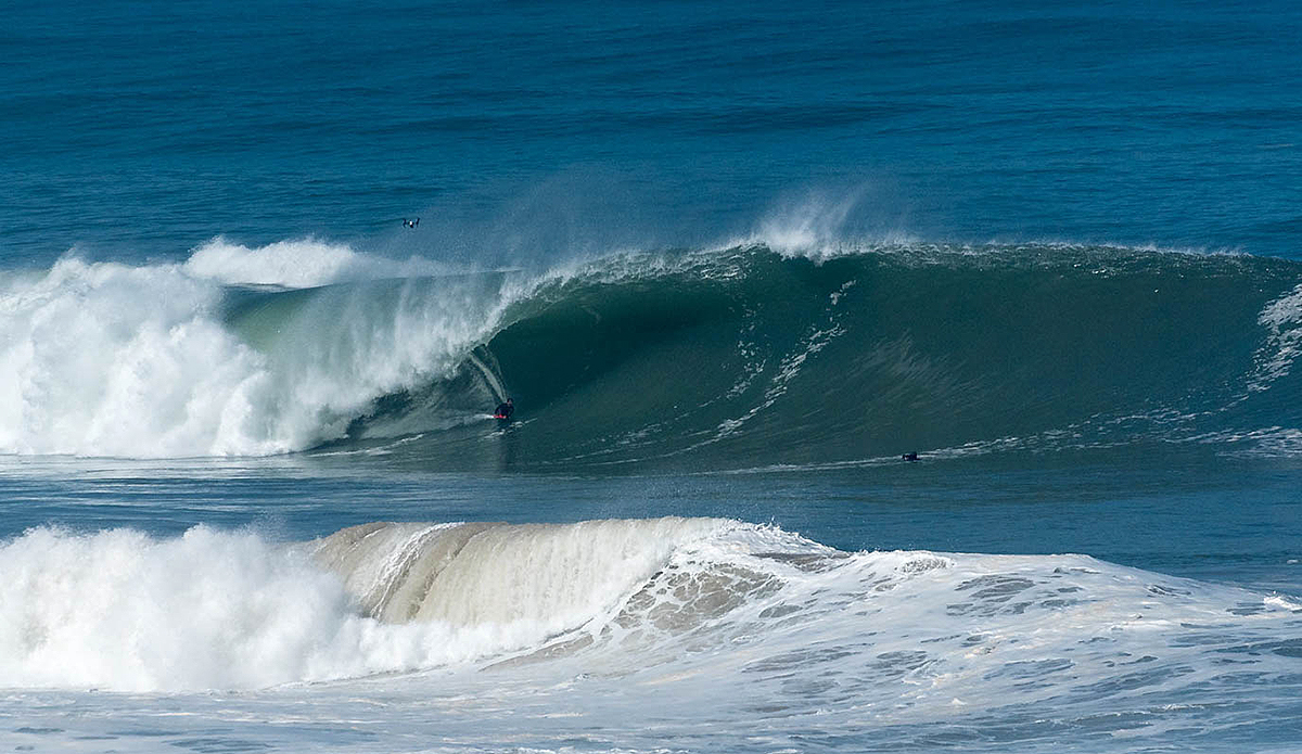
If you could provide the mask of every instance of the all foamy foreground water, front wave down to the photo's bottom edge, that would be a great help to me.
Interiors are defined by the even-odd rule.
[[[260,749],[340,714],[340,750],[392,750],[395,725],[486,749],[562,731],[620,749],[867,731],[883,749],[1197,749],[1246,721],[1286,750],[1299,724],[1302,604],[1086,556],[842,552],[661,518],[376,522],[283,544],[42,529],[0,568],[0,669],[29,689],[0,710],[49,699],[22,740],[72,750]]]

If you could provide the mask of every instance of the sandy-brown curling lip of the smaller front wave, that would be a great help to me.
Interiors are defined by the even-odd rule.
[[[546,637],[618,604],[684,542],[721,525],[700,518],[368,524],[323,539],[314,557],[381,620],[529,625]]]

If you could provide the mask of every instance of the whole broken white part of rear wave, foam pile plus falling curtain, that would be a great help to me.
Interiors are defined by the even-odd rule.
[[[65,258],[43,276],[8,281],[0,289],[0,452],[303,449],[341,436],[375,398],[452,374],[506,303],[500,281],[411,279],[323,289],[292,306],[267,298],[275,311],[250,314],[246,332],[237,332],[223,281],[290,280],[240,264],[221,280],[198,275],[229,251],[221,249],[184,266]],[[327,249],[333,266],[293,281],[358,264],[352,253]]]

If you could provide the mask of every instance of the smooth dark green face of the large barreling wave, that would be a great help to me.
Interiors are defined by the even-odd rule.
[[[298,342],[342,327],[340,310],[354,332],[440,301],[431,327],[449,335],[434,362],[348,417],[344,440],[401,436],[395,453],[430,468],[1237,452],[1299,419],[1299,272],[1285,260],[1065,245],[816,259],[745,246],[607,259],[527,284],[493,275],[279,293],[298,298],[245,302],[232,319],[254,340],[288,318]],[[470,314],[449,327],[456,313]],[[262,336],[272,349],[288,342],[273,341]],[[480,421],[506,393],[516,421]]]

